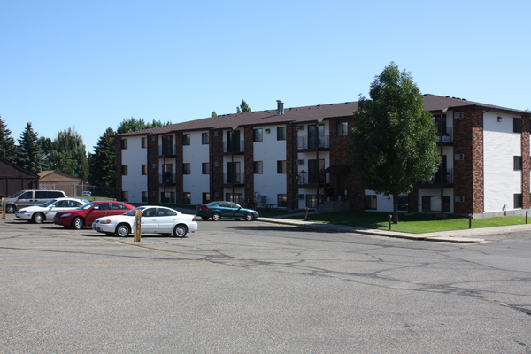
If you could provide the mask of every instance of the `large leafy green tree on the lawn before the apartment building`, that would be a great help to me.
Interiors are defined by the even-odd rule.
[[[361,188],[393,196],[398,223],[398,196],[432,178],[441,164],[437,130],[411,74],[400,72],[395,63],[375,77],[370,96],[361,96],[354,112],[350,165]]]

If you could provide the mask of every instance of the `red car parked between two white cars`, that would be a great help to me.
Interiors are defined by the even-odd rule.
[[[131,209],[135,209],[135,206],[123,202],[96,201],[67,212],[58,212],[53,222],[66,228],[80,230],[83,227],[91,226],[92,221],[97,218],[120,215]]]

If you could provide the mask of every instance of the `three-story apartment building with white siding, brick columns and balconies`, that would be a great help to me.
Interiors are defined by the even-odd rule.
[[[424,95],[424,107],[439,127],[443,163],[401,196],[400,210],[481,217],[530,207],[530,112],[435,95]],[[284,108],[279,100],[273,110],[116,135],[118,198],[391,211],[391,199],[360,189],[350,172],[357,109],[356,102]]]

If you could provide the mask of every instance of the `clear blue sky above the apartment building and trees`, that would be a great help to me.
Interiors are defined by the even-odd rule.
[[[531,2],[0,0],[0,115],[88,152],[135,117],[357,101],[394,61],[422,93],[531,108]]]

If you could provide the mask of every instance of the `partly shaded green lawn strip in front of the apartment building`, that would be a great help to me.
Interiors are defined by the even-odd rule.
[[[347,225],[352,227],[366,227],[381,230],[389,229],[389,212],[326,212],[308,215],[307,221],[324,222],[336,225]],[[302,217],[292,217],[289,219],[304,220]],[[440,219],[434,214],[399,214],[398,224],[391,224],[391,230],[424,234],[437,231],[462,230],[469,226],[468,218],[448,217]],[[531,222],[531,221],[530,221]],[[524,216],[505,216],[486,219],[472,219],[472,227],[502,227],[508,225],[525,224]]]

